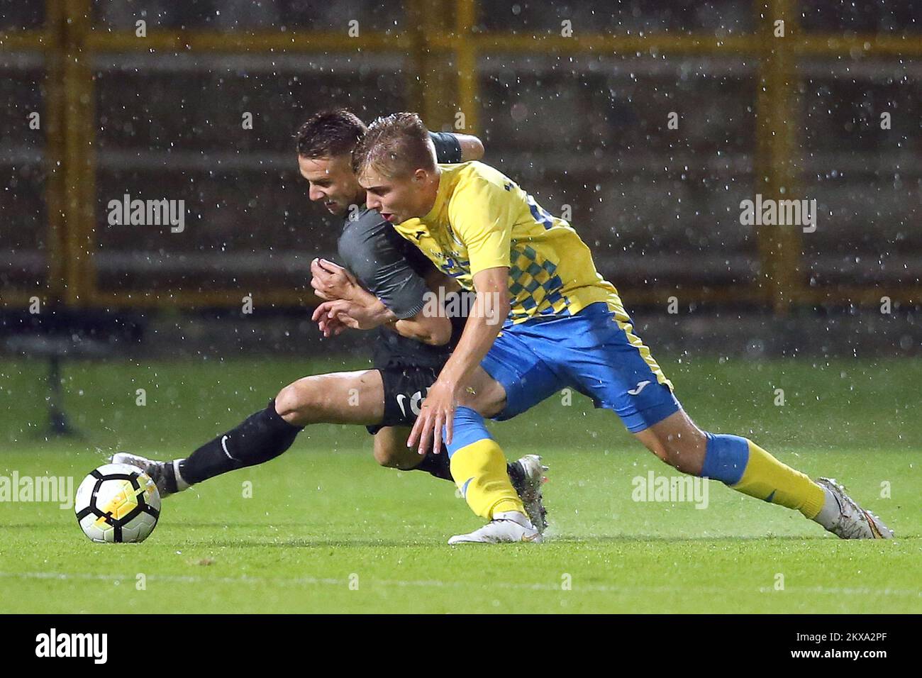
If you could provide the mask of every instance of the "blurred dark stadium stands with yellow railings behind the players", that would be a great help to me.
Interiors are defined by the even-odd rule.
[[[912,0],[6,0],[0,351],[323,346],[339,226],[291,137],[346,106],[477,134],[569,206],[657,354],[916,354],[920,59]],[[740,225],[757,193],[818,228]],[[184,231],[110,226],[124,194],[183,199]]]

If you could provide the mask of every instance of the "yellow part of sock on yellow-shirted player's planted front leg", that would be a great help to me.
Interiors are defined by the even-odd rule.
[[[491,438],[456,450],[451,470],[467,506],[479,517],[491,520],[494,513],[503,511],[525,513],[525,506],[509,481],[502,449]]]

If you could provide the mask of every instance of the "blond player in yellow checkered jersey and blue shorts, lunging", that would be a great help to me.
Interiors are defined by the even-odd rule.
[[[449,543],[540,541],[483,416],[509,419],[562,387],[614,410],[644,446],[682,472],[797,509],[844,539],[892,537],[833,480],[814,482],[751,440],[698,428],[573,227],[488,165],[437,165],[428,138],[415,113],[390,115],[370,126],[353,165],[367,206],[477,293],[408,442],[419,443],[420,453],[431,442],[438,453],[444,438],[455,483],[490,521]],[[497,389],[502,409],[481,407],[484,394]]]

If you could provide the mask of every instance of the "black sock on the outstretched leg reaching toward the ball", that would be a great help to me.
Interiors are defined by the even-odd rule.
[[[287,450],[302,428],[282,419],[276,411],[276,401],[271,400],[266,410],[250,415],[236,428],[183,459],[180,475],[193,485],[229,470],[262,464]]]

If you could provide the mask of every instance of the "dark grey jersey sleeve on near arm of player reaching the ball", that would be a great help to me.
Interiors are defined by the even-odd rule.
[[[380,223],[361,224],[343,232],[339,238],[339,258],[363,287],[405,320],[425,306],[426,281],[423,272],[411,266],[403,238],[377,213],[373,216]]]

